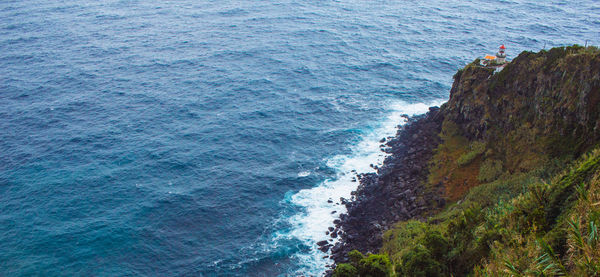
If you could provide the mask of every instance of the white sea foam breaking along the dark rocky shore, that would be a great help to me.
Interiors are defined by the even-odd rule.
[[[327,161],[329,167],[336,169],[336,178],[325,180],[314,188],[301,190],[291,196],[291,204],[301,207],[303,212],[288,219],[292,229],[284,236],[299,239],[311,249],[310,253],[298,254],[295,257],[303,265],[300,269],[302,272],[298,273],[318,276],[323,274],[325,266],[331,263],[329,259],[323,259],[325,254],[318,250],[316,243],[329,239],[325,234],[327,228],[333,225],[333,220],[338,218],[340,213],[346,212],[346,207],[339,204],[339,199],[350,198],[350,193],[356,189],[358,182],[352,181],[356,172],[374,172],[370,165],[381,165],[387,156],[380,149],[381,138],[396,134],[396,127],[406,123],[403,115],[425,113],[430,106],[439,105],[441,102],[408,104],[399,101],[391,104],[390,115],[380,125],[363,135],[352,147],[352,154],[334,156]],[[328,203],[329,199],[333,200],[333,203]],[[332,213],[333,211],[336,212]],[[336,240],[332,244],[335,242]]]

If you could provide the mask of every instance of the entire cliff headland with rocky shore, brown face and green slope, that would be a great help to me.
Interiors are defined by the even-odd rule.
[[[600,51],[478,64],[360,176],[336,222],[334,275],[599,274]]]

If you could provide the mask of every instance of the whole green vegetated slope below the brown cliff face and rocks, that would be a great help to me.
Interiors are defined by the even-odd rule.
[[[337,276],[597,276],[600,149],[548,183],[544,172],[483,184],[427,222],[398,223],[374,255],[393,272]]]

